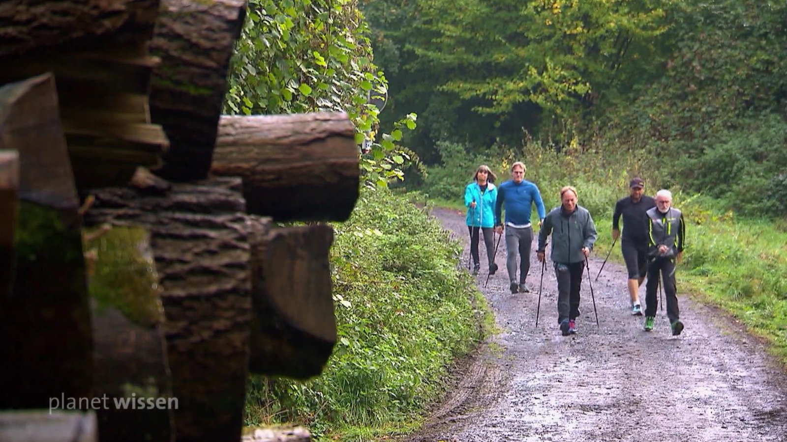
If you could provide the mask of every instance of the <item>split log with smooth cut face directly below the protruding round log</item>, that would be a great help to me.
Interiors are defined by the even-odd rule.
[[[252,240],[254,310],[249,368],[306,379],[320,374],[336,343],[327,225],[266,231]]]

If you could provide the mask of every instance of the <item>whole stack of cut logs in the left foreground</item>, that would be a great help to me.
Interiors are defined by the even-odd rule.
[[[331,355],[319,222],[357,200],[355,129],[220,115],[245,17],[245,0],[0,2],[3,442],[238,442],[249,374],[310,378]],[[275,227],[298,220],[317,223]],[[98,287],[121,231],[131,280]]]

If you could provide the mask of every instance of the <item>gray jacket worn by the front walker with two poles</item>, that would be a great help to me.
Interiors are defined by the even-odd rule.
[[[577,204],[570,215],[563,213],[563,206],[553,208],[538,232],[538,251],[546,248],[546,238],[552,234],[551,259],[556,263],[578,263],[585,260],[582,247],[593,250],[596,242],[596,225],[586,208]]]

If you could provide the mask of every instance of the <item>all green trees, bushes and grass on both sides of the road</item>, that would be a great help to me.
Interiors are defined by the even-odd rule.
[[[317,440],[419,425],[493,331],[427,216],[464,208],[478,164],[503,181],[523,160],[548,208],[578,187],[597,253],[630,178],[672,190],[689,221],[678,284],[787,361],[787,2],[250,0],[226,112],[320,110],[347,112],[363,152],[357,208],[334,225],[339,344],[315,380],[255,379],[249,425]]]

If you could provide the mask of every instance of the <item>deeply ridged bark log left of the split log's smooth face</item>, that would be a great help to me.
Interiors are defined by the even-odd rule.
[[[86,223],[150,231],[161,285],[177,440],[237,442],[249,373],[251,283],[240,179],[91,192]]]

